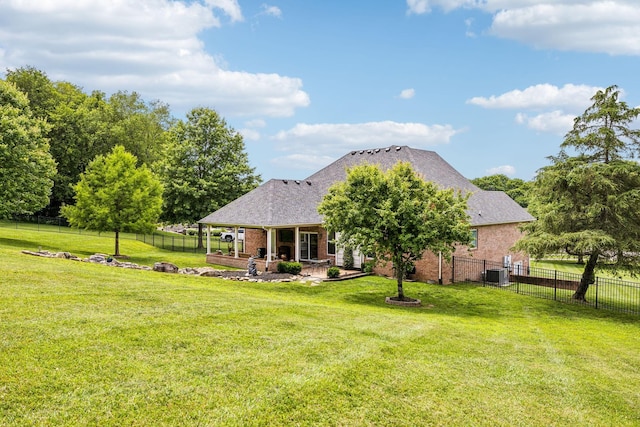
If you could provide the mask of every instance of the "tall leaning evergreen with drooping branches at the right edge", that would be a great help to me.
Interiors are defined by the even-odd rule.
[[[581,301],[599,261],[614,260],[614,269],[640,265],[640,165],[626,159],[640,148],[640,131],[629,128],[640,108],[618,98],[616,86],[598,91],[575,119],[560,154],[536,176],[531,206],[538,221],[516,244],[537,257],[567,248],[588,257],[573,295]]]

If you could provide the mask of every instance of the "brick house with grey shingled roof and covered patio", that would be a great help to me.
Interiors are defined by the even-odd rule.
[[[433,151],[391,146],[352,151],[303,180],[271,179],[201,219],[199,222],[209,228],[245,229],[245,254],[238,252],[238,239],[234,241],[235,256],[211,253],[208,240],[207,262],[246,267],[243,256],[253,254],[259,255],[256,263],[262,269],[281,259],[342,265],[342,251],[332,243],[335,236],[322,227],[318,204],[334,182],[346,178],[347,168],[368,162],[386,170],[399,161],[411,163],[425,180],[441,188],[471,193],[468,214],[474,243],[471,248],[458,248],[456,254],[516,265],[525,260],[524,254],[511,251],[521,237],[519,225],[534,220],[525,209],[504,192],[479,189]],[[354,260],[358,267],[363,256],[356,254]],[[428,253],[416,263],[414,277],[448,283],[450,268],[437,254]],[[390,266],[377,267],[376,271],[391,274]]]

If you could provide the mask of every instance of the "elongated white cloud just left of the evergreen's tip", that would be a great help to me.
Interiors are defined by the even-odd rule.
[[[488,98],[477,96],[467,100],[467,104],[483,108],[539,109],[564,107],[583,110],[591,104],[591,97],[603,88],[587,85],[566,84],[559,88],[550,84],[529,86],[524,90],[512,90],[502,95]]]

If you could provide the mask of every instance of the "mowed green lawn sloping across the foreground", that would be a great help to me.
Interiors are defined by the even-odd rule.
[[[640,424],[637,317],[422,283],[409,309],[379,277],[238,283],[20,253],[102,244],[0,228],[0,425]]]

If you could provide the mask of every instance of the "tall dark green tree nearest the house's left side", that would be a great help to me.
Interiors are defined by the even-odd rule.
[[[242,135],[214,110],[196,108],[170,131],[158,163],[164,185],[162,219],[194,223],[254,189],[260,175],[249,166]],[[202,247],[202,224],[198,227]]]

